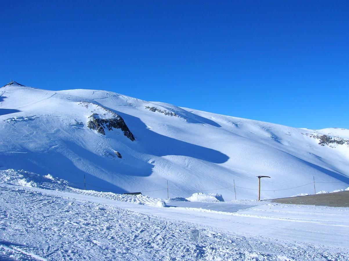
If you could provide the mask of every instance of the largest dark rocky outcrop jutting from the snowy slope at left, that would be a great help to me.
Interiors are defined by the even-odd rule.
[[[105,135],[105,128],[108,130],[121,129],[122,132],[128,139],[134,141],[135,138],[132,132],[128,129],[124,119],[121,118],[120,115],[111,112],[113,117],[109,119],[103,119],[99,114],[93,113],[89,117],[89,121],[87,122],[87,127],[93,130],[96,130],[98,133]],[[121,156],[121,155],[120,155]],[[119,156],[118,156],[119,157]]]

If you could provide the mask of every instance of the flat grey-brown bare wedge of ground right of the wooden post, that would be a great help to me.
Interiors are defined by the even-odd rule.
[[[273,199],[271,201],[284,204],[349,207],[349,191],[308,196],[284,197],[282,199]]]

